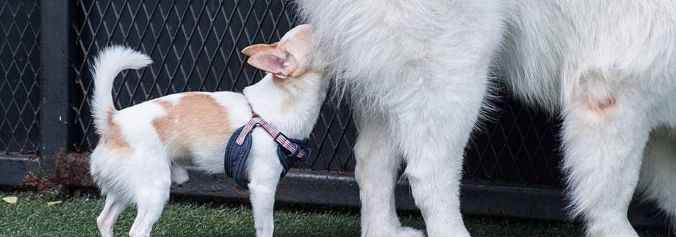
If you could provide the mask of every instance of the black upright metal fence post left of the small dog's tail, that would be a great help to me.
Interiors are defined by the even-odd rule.
[[[70,5],[71,1],[41,0],[41,111],[40,171],[53,174],[56,155],[72,147],[73,110],[70,109]]]

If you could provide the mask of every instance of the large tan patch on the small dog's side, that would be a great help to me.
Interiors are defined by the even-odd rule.
[[[156,117],[153,127],[167,147],[189,151],[190,147],[220,145],[233,133],[227,110],[204,93],[183,93],[178,103],[158,100],[166,115]]]

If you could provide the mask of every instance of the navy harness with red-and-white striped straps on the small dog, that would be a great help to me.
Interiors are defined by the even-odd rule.
[[[310,149],[306,148],[306,140],[296,140],[287,138],[284,134],[270,126],[268,122],[258,117],[254,111],[251,111],[251,120],[245,126],[235,130],[233,136],[228,141],[228,147],[225,149],[225,174],[235,180],[235,182],[242,188],[249,189],[249,180],[244,177],[244,165],[249,157],[251,151],[251,131],[260,126],[265,129],[277,147],[277,156],[279,156],[279,163],[282,163],[284,168],[279,179],[281,180],[287,175],[289,169],[295,167],[299,161],[307,161],[310,157]]]

